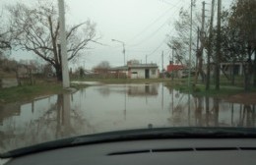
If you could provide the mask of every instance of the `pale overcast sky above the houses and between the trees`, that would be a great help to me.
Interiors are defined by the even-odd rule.
[[[19,0],[32,3],[32,0]],[[57,1],[57,0],[56,0]],[[231,0],[223,0],[227,6]],[[1,0],[0,5],[18,2]],[[166,35],[173,35],[173,23],[178,19],[181,7],[189,9],[190,0],[65,0],[69,6],[66,14],[67,25],[79,24],[87,19],[96,23],[99,42],[105,46],[90,44],[93,48],[78,63],[77,68],[85,66],[91,69],[100,61],[108,61],[111,66],[124,63],[122,45],[111,39],[123,41],[126,49],[126,61],[136,59],[142,63],[157,63],[161,68],[163,51],[164,68],[168,63],[170,50],[166,46]],[[211,0],[206,8],[210,11]],[[202,1],[197,0],[197,9],[201,10]],[[207,15],[207,14],[206,14]],[[208,14],[210,16],[210,12]],[[35,56],[26,52],[14,52],[16,59],[28,59]]]

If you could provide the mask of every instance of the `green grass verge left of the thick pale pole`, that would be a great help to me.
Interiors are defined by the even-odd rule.
[[[38,83],[0,89],[0,103],[27,101],[34,97],[63,92],[60,83]]]

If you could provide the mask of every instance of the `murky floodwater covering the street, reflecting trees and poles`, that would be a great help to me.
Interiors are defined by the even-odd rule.
[[[72,94],[0,106],[0,152],[109,131],[256,127],[255,105],[194,97],[162,83],[95,85]]]

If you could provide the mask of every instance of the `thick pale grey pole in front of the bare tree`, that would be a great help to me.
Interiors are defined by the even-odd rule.
[[[62,85],[64,88],[67,88],[67,87],[70,87],[70,82],[69,82],[69,71],[68,71],[64,0],[59,0],[59,24],[60,24],[60,44],[61,44],[61,64],[62,64]]]

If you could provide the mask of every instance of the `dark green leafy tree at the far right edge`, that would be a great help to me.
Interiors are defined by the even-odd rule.
[[[250,89],[251,78],[256,85],[256,1],[236,0],[230,10],[229,27],[235,28],[247,54],[244,71],[244,88]],[[238,46],[238,44],[237,44]],[[254,53],[254,64],[252,55]]]

